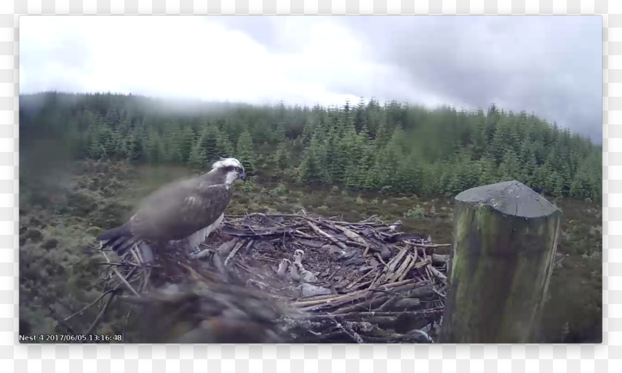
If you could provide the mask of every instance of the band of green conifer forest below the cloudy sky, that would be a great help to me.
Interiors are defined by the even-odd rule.
[[[453,194],[516,179],[549,195],[601,200],[601,146],[494,105],[251,106],[38,93],[20,95],[19,121],[23,159],[55,140],[55,152],[72,159],[205,167],[233,156],[262,178],[360,191]]]

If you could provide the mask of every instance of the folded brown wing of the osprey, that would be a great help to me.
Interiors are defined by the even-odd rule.
[[[180,240],[216,221],[231,195],[227,184],[197,180],[164,187],[149,196],[130,219],[131,231],[151,240]]]

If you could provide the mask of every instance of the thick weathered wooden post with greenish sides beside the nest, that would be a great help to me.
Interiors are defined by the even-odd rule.
[[[561,211],[516,180],[455,196],[441,343],[537,343]]]

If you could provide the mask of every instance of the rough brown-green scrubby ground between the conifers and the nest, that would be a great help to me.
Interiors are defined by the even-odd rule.
[[[102,229],[120,224],[140,199],[165,182],[196,173],[178,166],[138,166],[123,162],[77,162],[62,178],[53,179],[46,195],[21,193],[20,314],[21,327],[49,332],[57,318],[77,312],[99,294],[99,259],[84,255],[84,246]],[[62,182],[59,182],[62,180]],[[28,184],[25,184],[28,187]],[[49,191],[55,191],[51,193]],[[545,310],[543,329],[551,342],[597,341],[601,336],[601,208],[594,202],[557,200],[564,211],[563,233]],[[229,214],[294,212],[305,209],[325,216],[359,220],[377,214],[393,222],[402,219],[404,231],[430,234],[439,243],[451,242],[453,200],[412,194],[380,195],[327,187],[297,187],[254,177],[236,184]],[[566,256],[567,255],[567,256]],[[563,259],[562,259],[563,258]],[[89,289],[93,289],[90,291]],[[86,324],[94,310],[73,319]],[[102,332],[124,325],[117,312]]]

